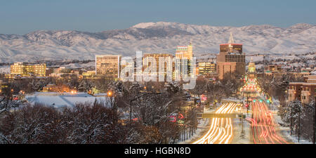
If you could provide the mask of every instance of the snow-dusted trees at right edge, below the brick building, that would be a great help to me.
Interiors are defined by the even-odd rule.
[[[315,135],[313,124],[315,124],[315,101],[308,105],[303,105],[301,101],[294,100],[279,109],[283,123],[282,126],[291,128],[294,134],[300,135],[301,138],[312,141]]]

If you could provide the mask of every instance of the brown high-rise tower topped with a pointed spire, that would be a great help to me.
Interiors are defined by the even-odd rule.
[[[235,44],[232,33],[228,44],[220,44],[216,64],[219,79],[223,79],[226,73],[235,74],[237,77],[246,73],[246,58],[242,53],[242,44]]]

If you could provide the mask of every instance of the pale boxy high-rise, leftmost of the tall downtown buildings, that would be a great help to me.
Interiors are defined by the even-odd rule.
[[[96,75],[119,79],[121,55],[96,55]]]

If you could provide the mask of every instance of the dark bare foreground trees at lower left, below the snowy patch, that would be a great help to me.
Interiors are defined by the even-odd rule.
[[[99,103],[59,111],[26,105],[1,121],[0,143],[129,143],[118,115]]]

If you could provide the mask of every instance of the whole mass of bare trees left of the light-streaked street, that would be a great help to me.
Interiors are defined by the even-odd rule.
[[[195,128],[180,85],[109,81],[107,90],[105,103],[63,109],[1,96],[0,143],[176,143],[183,126]],[[179,113],[185,124],[170,121]]]

